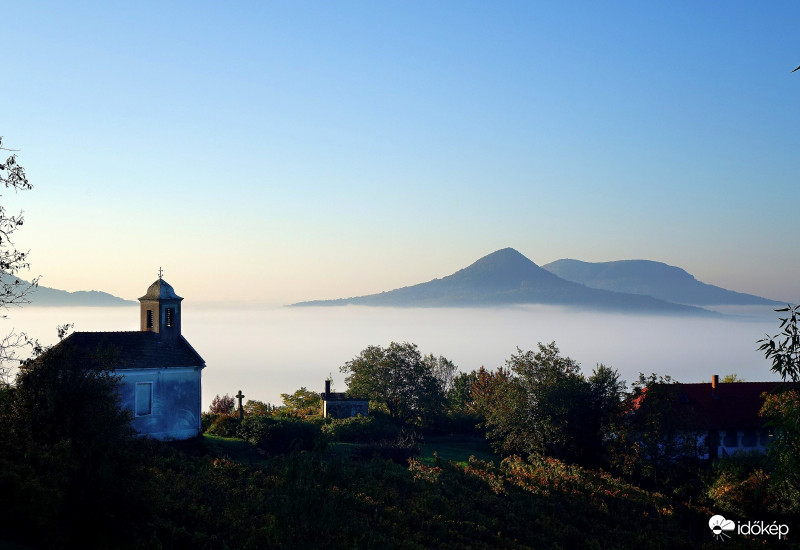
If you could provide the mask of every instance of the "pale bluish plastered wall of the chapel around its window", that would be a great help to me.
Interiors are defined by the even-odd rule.
[[[202,367],[117,370],[120,404],[136,411],[136,384],[152,383],[150,414],[135,416],[133,428],[156,439],[188,439],[200,433]]]

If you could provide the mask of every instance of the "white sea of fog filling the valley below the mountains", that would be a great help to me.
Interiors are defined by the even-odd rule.
[[[56,326],[76,331],[138,330],[139,308],[12,309],[0,321],[43,344]],[[339,367],[369,345],[416,343],[424,354],[444,355],[462,371],[496,368],[517,347],[555,341],[585,373],[610,365],[630,384],[639,372],[701,382],[736,373],[748,381],[775,380],[756,340],[778,331],[770,308],[729,308],[718,318],[626,315],[551,306],[491,309],[392,309],[361,306],[250,308],[183,306],[183,335],[206,360],[203,403],[242,390],[246,399],[280,403],[301,386],[322,390]]]

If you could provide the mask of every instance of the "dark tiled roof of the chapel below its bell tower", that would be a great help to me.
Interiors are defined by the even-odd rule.
[[[155,332],[73,332],[59,345],[111,354],[115,369],[205,367],[206,364],[183,336],[161,338]]]

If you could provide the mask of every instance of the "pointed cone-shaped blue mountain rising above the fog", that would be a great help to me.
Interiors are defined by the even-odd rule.
[[[314,300],[292,306],[475,307],[510,304],[552,304],[616,311],[708,314],[650,296],[597,290],[564,280],[514,250],[504,248],[441,279],[380,294]]]

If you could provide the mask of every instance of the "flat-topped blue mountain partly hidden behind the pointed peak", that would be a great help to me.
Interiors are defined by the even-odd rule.
[[[653,296],[676,304],[694,306],[785,304],[702,283],[679,267],[650,260],[598,263],[556,260],[542,268],[562,279],[591,288]]]

